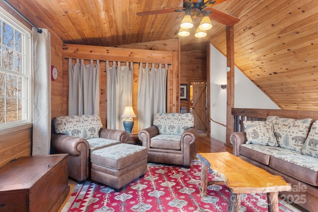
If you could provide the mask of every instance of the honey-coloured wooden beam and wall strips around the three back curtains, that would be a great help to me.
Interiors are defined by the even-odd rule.
[[[175,39],[174,39],[175,40]],[[174,42],[176,42],[175,40]],[[157,44],[159,49],[159,42],[153,42]],[[163,43],[163,42],[161,42]],[[145,44],[144,44],[145,45]],[[132,46],[140,46],[137,44],[132,44]],[[154,46],[154,45],[152,45]],[[165,46],[163,44],[163,46]],[[125,48],[128,47],[127,45]],[[169,101],[168,112],[176,112],[179,108],[179,95],[178,88],[175,81],[178,81],[178,67],[179,62],[175,56],[176,51],[153,51],[153,50],[140,50],[140,49],[124,49],[124,48],[114,48],[114,47],[96,47],[96,46],[83,46],[83,45],[71,45],[64,44],[63,47],[63,90],[65,93],[68,93],[68,59],[66,58],[83,58],[83,59],[99,59],[99,60],[109,60],[109,61],[127,61],[127,62],[149,62],[155,63],[158,66],[159,63],[169,63],[168,66],[168,92],[169,92]],[[178,53],[179,54],[179,53]],[[75,60],[74,60],[75,63]],[[87,61],[88,63],[88,61]],[[176,64],[176,65],[175,65]],[[123,64],[124,65],[124,64]],[[175,65],[175,66],[173,66]],[[173,69],[174,68],[174,69]],[[133,108],[137,113],[137,89],[138,89],[138,72],[139,64],[134,64],[134,81],[133,81]],[[106,70],[105,62],[100,62],[100,117],[103,123],[103,126],[106,126]],[[68,111],[68,95],[63,97],[63,113],[67,115]],[[138,115],[138,114],[136,114]],[[137,118],[134,120],[134,131],[137,131],[138,124]]]

